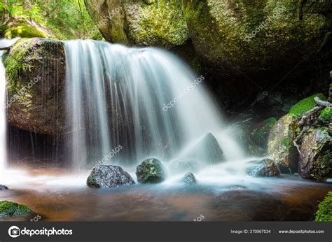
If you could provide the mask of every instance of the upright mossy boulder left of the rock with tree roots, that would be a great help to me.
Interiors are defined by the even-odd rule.
[[[284,172],[286,169],[297,171],[298,151],[293,145],[297,128],[298,120],[287,114],[278,120],[270,131],[268,155]]]

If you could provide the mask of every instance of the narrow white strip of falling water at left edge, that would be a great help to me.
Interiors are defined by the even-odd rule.
[[[12,45],[18,38],[8,40],[0,39],[0,47]],[[7,117],[6,117],[6,69],[2,63],[2,55],[5,51],[0,51],[0,173],[4,172],[7,164]]]

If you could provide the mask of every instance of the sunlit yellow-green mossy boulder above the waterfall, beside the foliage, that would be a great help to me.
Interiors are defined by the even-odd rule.
[[[182,45],[188,39],[181,1],[85,0],[104,38],[132,45]]]

